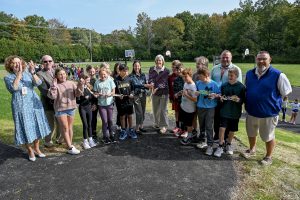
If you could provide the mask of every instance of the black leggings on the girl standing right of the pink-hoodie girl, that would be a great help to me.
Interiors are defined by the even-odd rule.
[[[82,121],[83,138],[87,139],[87,134],[92,137],[92,107],[91,105],[79,106],[79,114]]]

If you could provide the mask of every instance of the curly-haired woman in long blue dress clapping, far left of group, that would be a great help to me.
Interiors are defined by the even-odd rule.
[[[39,148],[39,139],[51,131],[43,105],[34,91],[34,86],[40,85],[42,81],[35,74],[33,62],[30,61],[27,69],[25,61],[18,56],[7,57],[5,69],[9,73],[4,77],[5,85],[12,94],[15,143],[25,144],[29,160],[35,161],[35,156],[45,157]]]

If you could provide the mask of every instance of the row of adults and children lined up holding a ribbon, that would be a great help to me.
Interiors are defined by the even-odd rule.
[[[220,64],[211,71],[206,57],[196,58],[196,73],[174,60],[170,73],[164,57],[157,55],[148,79],[141,71],[140,61],[133,62],[130,74],[125,64],[116,63],[111,73],[109,65],[102,63],[98,77],[95,68],[89,65],[87,74],[81,74],[75,83],[67,79],[64,68],[53,71],[54,61],[49,55],[42,57],[43,69],[38,73],[32,61],[26,64],[22,58],[10,56],[5,61],[9,72],[5,83],[13,96],[16,144],[26,145],[31,161],[36,159],[35,156],[45,157],[39,149],[39,139],[44,137],[46,147],[53,146],[55,137],[57,143],[64,141],[67,144],[68,153],[79,154],[80,150],[72,144],[77,105],[83,124],[84,149],[97,145],[98,113],[102,120],[102,141],[104,144],[116,142],[112,128],[114,107],[117,109],[116,123],[120,127],[119,140],[136,139],[146,131],[143,122],[146,96],[150,94],[153,128],[161,134],[167,132],[170,100],[176,120],[172,132],[181,138],[181,144],[197,142],[198,148],[206,148],[205,154],[216,157],[221,157],[224,152],[233,154],[232,140],[245,104],[250,148],[242,155],[246,158],[255,155],[256,137],[260,134],[266,143],[266,155],[261,163],[270,165],[282,97],[292,91],[289,80],[272,67],[267,51],[257,54],[256,66],[246,73],[245,85],[241,69],[232,63],[231,52],[224,50],[220,57]],[[41,101],[34,86],[41,92]],[[134,112],[135,127],[132,122]],[[216,149],[213,148],[214,141],[218,141]]]

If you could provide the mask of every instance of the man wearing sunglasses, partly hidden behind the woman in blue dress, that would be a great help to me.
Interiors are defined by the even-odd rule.
[[[41,92],[41,100],[44,106],[45,114],[52,130],[51,134],[45,137],[45,147],[52,147],[52,138],[56,135],[56,139],[59,139],[59,130],[57,126],[57,120],[54,116],[53,100],[47,97],[48,90],[54,78],[54,61],[51,56],[44,55],[41,59],[43,69],[40,70],[37,75],[42,80],[42,84],[38,87]],[[59,141],[58,141],[59,142]]]

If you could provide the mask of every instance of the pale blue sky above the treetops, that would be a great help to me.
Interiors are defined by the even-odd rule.
[[[69,28],[88,28],[107,34],[135,27],[141,12],[151,19],[183,11],[221,14],[238,8],[239,0],[0,0],[0,5],[0,11],[19,19],[36,14],[45,19],[57,18]]]

